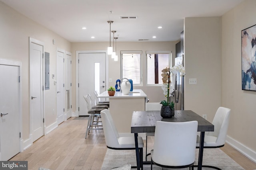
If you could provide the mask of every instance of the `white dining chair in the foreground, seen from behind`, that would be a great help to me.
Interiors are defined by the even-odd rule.
[[[197,121],[157,121],[154,149],[151,150],[152,164],[164,168],[192,167],[195,161]]]

